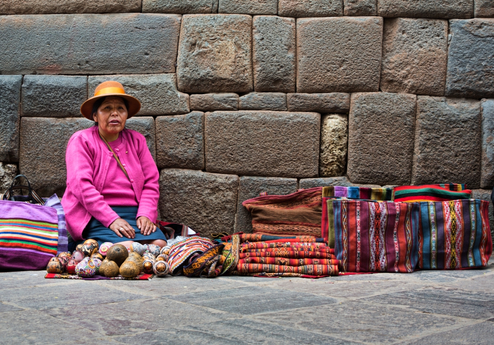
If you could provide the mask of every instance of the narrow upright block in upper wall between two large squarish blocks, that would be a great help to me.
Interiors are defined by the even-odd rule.
[[[295,19],[252,19],[252,68],[255,91],[295,92]]]

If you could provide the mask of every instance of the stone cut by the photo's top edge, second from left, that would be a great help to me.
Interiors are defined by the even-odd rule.
[[[217,2],[217,0],[142,0],[142,13],[216,13]]]

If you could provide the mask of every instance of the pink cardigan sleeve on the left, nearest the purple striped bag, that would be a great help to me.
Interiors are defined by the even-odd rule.
[[[82,206],[107,228],[119,215],[104,201],[94,186],[94,164],[87,142],[82,136],[70,139],[65,155],[67,184]]]

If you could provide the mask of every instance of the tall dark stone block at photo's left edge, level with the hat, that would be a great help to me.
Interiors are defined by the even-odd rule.
[[[0,75],[0,161],[19,160],[22,75]]]

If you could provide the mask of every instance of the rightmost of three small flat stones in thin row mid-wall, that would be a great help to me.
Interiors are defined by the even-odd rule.
[[[350,94],[287,94],[288,111],[348,112]]]

